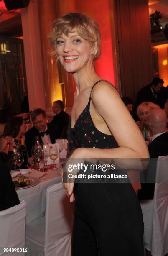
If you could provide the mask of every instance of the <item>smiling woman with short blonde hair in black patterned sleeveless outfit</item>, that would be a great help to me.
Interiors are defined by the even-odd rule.
[[[148,149],[120,95],[99,77],[100,32],[92,18],[67,13],[49,35],[56,59],[76,83],[68,129],[69,159],[148,158]],[[63,171],[61,173],[63,176]],[[143,256],[143,218],[130,183],[64,183],[75,200],[73,256]]]

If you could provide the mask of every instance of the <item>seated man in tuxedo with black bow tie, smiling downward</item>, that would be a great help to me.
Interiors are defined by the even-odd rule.
[[[61,133],[58,125],[47,123],[46,112],[41,108],[36,108],[31,113],[33,128],[25,133],[25,144],[28,156],[31,157],[31,149],[35,144],[35,137],[39,137],[40,144],[55,143],[56,138],[60,138]]]

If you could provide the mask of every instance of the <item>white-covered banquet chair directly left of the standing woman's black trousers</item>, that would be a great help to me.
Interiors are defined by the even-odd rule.
[[[26,225],[27,255],[71,256],[73,208],[62,183],[48,187],[45,216]]]

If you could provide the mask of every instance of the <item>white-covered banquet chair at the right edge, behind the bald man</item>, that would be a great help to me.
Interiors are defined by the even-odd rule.
[[[153,200],[141,200],[144,221],[144,247],[153,256],[168,253],[168,156],[157,161]]]

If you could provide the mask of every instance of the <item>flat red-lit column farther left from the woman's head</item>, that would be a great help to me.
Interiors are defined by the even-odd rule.
[[[31,0],[29,6],[20,12],[30,110],[46,109],[37,2]]]

